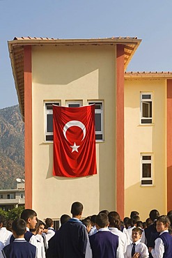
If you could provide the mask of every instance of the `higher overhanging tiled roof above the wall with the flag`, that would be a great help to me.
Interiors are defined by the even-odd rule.
[[[31,38],[15,37],[8,41],[10,60],[15,78],[15,87],[19,100],[19,107],[24,119],[24,45],[124,45],[125,70],[136,52],[141,39],[136,37],[112,37],[112,38],[91,38],[91,39],[58,39],[58,38]]]

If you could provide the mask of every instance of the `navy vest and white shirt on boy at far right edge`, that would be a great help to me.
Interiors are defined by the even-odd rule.
[[[151,250],[153,258],[172,258],[172,236],[164,230],[155,240],[155,248]]]

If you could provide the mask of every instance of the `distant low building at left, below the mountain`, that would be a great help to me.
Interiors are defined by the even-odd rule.
[[[17,183],[17,189],[0,190],[0,208],[11,210],[25,204],[24,183]]]

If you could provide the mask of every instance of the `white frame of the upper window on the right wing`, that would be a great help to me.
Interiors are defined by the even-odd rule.
[[[144,95],[150,95],[150,98],[143,98]],[[150,103],[151,105],[151,112],[152,116],[150,116]],[[143,116],[143,104],[148,104],[148,113],[149,116],[145,117]],[[141,91],[140,93],[140,123],[141,125],[151,125],[153,124],[153,91]],[[150,120],[150,123],[143,123],[143,121]]]

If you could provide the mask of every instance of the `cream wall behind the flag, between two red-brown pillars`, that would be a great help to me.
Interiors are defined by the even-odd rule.
[[[38,218],[70,214],[72,202],[84,216],[115,209],[116,48],[113,46],[33,47],[33,208]],[[44,100],[104,100],[104,142],[96,144],[97,175],[52,176],[53,144],[44,142]]]

